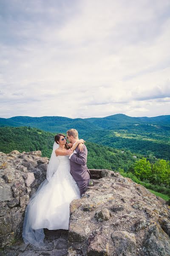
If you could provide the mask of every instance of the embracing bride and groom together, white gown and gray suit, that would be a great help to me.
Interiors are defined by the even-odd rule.
[[[43,228],[68,230],[70,203],[81,197],[90,180],[88,151],[77,130],[68,130],[67,137],[57,134],[54,140],[47,179],[30,198],[23,224],[24,242],[37,247],[44,245]]]

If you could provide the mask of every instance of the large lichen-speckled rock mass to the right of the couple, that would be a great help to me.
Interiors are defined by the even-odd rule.
[[[109,170],[70,205],[68,256],[169,256],[170,207]]]

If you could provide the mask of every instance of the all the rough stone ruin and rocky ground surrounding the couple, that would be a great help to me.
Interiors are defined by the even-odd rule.
[[[69,231],[45,230],[40,250],[21,239],[31,195],[46,178],[40,151],[0,153],[0,255],[169,256],[170,206],[118,172],[90,170],[94,186],[70,205]],[[68,248],[68,249],[67,249]]]

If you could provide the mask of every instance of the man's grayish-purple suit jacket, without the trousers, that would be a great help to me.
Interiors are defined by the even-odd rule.
[[[84,145],[84,149],[81,152],[78,147],[75,149],[77,153],[74,153],[70,158],[71,175],[74,180],[88,180],[90,179],[89,171],[87,168],[87,155],[88,150]]]

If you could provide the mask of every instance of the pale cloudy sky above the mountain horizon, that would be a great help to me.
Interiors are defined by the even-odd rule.
[[[170,0],[0,0],[0,117],[170,114]]]

